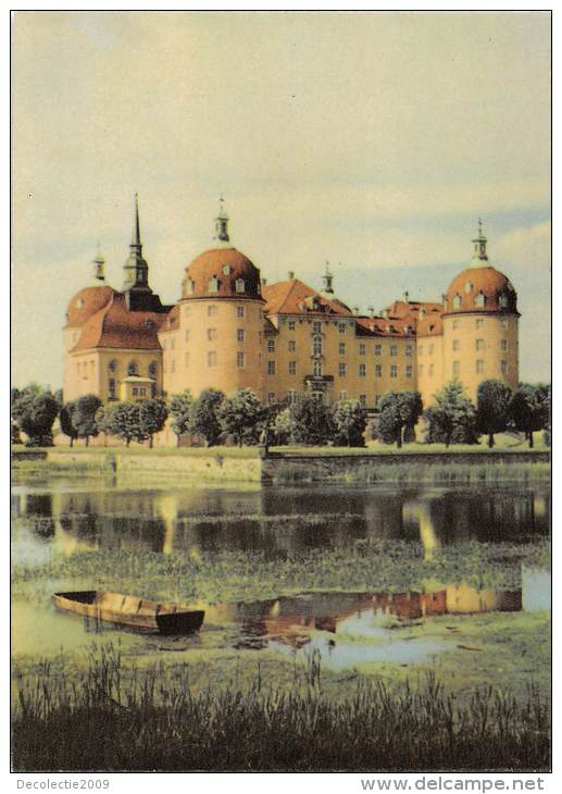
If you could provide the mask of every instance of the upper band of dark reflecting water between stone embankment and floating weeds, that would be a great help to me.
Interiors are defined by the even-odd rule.
[[[285,558],[377,538],[422,542],[432,558],[459,541],[525,542],[549,531],[548,489],[315,486],[227,491],[74,485],[12,496],[14,537],[52,542],[53,554],[139,549]],[[17,559],[17,556],[16,558]]]

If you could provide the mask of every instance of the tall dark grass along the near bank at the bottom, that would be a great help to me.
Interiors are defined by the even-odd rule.
[[[243,690],[195,694],[189,667],[125,669],[113,646],[70,679],[43,662],[16,675],[15,771],[546,770],[548,707],[491,687],[463,705],[434,674],[391,693],[358,679],[345,700],[323,692],[317,656],[290,691],[255,675]]]

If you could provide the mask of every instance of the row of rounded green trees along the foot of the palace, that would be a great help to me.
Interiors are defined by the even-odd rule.
[[[57,418],[71,447],[78,439],[87,446],[100,433],[121,438],[127,447],[132,441],[148,441],[151,447],[154,434],[168,418],[178,439],[191,433],[208,446],[230,439],[239,446],[263,443],[361,447],[365,445],[367,423],[367,412],[358,400],[341,400],[328,407],[304,396],[291,404],[264,405],[249,388],[238,389],[232,396],[208,388],[197,398],[185,390],[168,400],[157,397],[103,406],[96,395],[63,402],[60,392],[52,394],[30,384],[22,390],[12,389],[11,407],[12,442],[21,442],[22,431],[29,446],[52,445]],[[524,433],[533,447],[534,433],[544,430],[550,444],[550,387],[521,384],[512,393],[501,381],[484,381],[474,405],[460,382],[452,381],[425,409],[419,392],[389,392],[379,402],[374,435],[385,444],[401,447],[415,438],[414,427],[422,417],[427,443],[476,444],[480,435],[486,435],[488,446],[492,447],[496,433],[513,430]]]

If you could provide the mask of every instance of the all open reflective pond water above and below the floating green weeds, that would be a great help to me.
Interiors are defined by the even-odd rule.
[[[307,555],[375,538],[417,541],[426,555],[462,541],[529,543],[549,533],[547,486],[142,488],[103,479],[37,479],[12,493],[12,559],[39,565],[79,550],[150,549],[212,555],[258,550],[270,559]],[[149,594],[147,594],[149,595]],[[197,605],[201,632],[166,649],[263,650],[323,663],[428,661],[448,647],[408,636],[408,626],[438,615],[547,608],[550,578],[527,570],[523,591],[476,591],[444,584],[428,593],[302,593],[250,604]],[[86,647],[123,630],[57,612],[50,603],[14,601],[16,654]],[[220,637],[217,640],[217,637]],[[152,637],[151,643],[164,641]]]

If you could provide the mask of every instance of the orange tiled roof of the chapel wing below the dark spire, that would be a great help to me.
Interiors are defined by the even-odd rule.
[[[114,294],[86,322],[73,352],[100,347],[160,350],[158,330],[165,317],[151,311],[128,311],[124,296]]]

